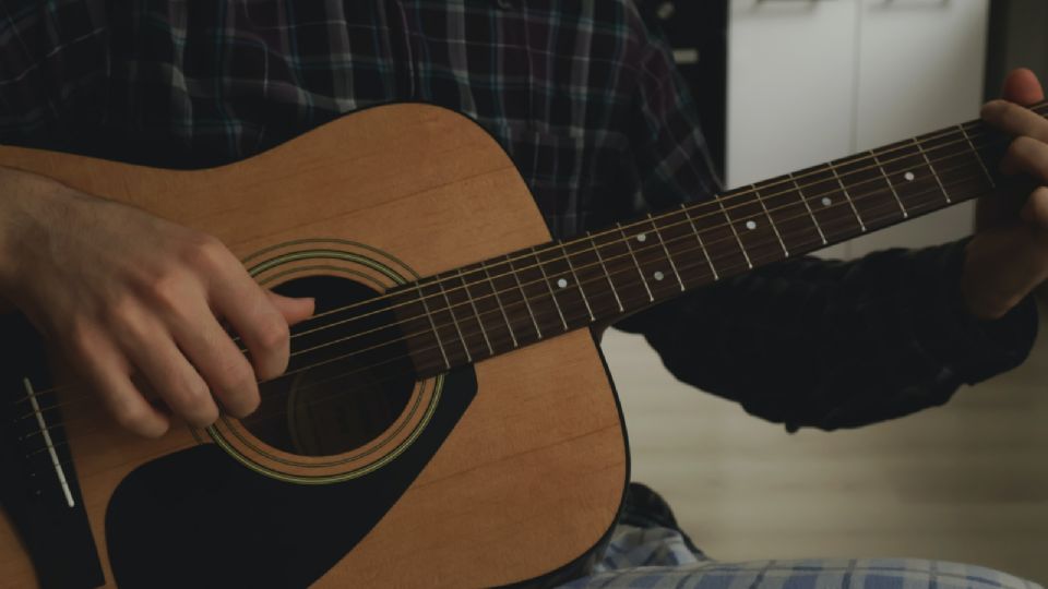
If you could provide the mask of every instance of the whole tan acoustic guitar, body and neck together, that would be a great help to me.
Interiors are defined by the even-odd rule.
[[[202,170],[0,147],[0,166],[216,236],[261,285],[318,297],[255,413],[158,440],[114,424],[4,317],[0,585],[583,575],[629,479],[585,327],[989,194],[1000,145],[973,121],[564,241],[498,143],[434,106]]]

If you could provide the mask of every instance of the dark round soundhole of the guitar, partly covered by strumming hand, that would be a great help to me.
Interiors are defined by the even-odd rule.
[[[314,297],[314,318],[291,328],[291,361],[260,386],[259,410],[241,423],[299,456],[359,448],[392,425],[410,399],[415,374],[389,302],[359,283],[311,276],[275,291]]]

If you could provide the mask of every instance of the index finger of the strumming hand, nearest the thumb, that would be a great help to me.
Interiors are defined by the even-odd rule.
[[[290,348],[287,321],[239,262],[223,275],[226,280],[212,287],[212,308],[239,334],[259,380],[279,376],[287,369]]]

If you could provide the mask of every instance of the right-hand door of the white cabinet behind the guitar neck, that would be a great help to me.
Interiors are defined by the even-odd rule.
[[[856,149],[978,117],[989,3],[864,0],[859,19]],[[972,232],[975,203],[853,240],[861,256],[892,245],[942,243]]]

